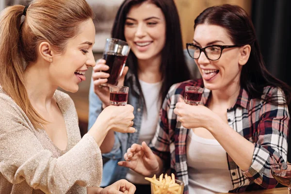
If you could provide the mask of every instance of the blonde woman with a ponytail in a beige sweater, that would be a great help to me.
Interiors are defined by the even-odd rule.
[[[99,146],[110,130],[134,132],[133,107],[107,107],[81,139],[74,103],[57,90],[77,92],[95,65],[92,18],[85,0],[34,0],[2,11],[1,194],[134,193],[126,180],[94,188],[102,177]]]

